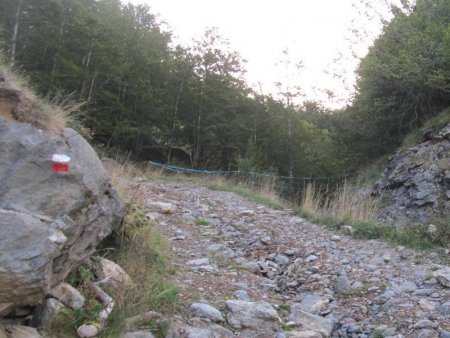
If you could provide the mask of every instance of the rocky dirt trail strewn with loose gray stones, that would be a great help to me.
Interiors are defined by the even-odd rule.
[[[186,311],[170,337],[450,337],[450,270],[436,254],[194,184],[146,182],[137,198],[177,265]]]

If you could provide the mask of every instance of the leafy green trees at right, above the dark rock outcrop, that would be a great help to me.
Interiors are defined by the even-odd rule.
[[[449,7],[448,0],[418,0],[410,14],[395,10],[362,59],[354,102],[334,119],[349,162],[393,152],[450,105]]]

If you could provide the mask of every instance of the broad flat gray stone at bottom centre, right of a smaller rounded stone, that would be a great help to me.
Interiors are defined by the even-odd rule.
[[[228,323],[237,328],[271,329],[276,331],[279,327],[277,311],[264,301],[247,302],[242,300],[228,300]]]

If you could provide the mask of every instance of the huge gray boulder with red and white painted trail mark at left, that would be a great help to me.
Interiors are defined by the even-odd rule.
[[[0,302],[10,306],[39,302],[123,215],[100,160],[77,132],[13,118],[19,108],[22,116],[36,109],[22,104],[23,95],[0,82]],[[51,170],[55,153],[71,158],[69,171]]]

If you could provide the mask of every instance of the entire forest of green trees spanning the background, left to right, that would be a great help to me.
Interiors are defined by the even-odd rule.
[[[119,0],[3,0],[0,41],[41,95],[86,102],[77,118],[98,145],[195,168],[338,176],[450,105],[450,0],[393,12],[337,111],[256,93],[216,29],[184,48],[149,7]]]

